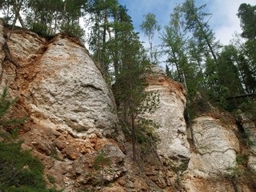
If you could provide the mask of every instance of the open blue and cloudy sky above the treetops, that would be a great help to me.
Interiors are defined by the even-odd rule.
[[[184,0],[119,0],[128,9],[136,31],[144,20],[143,15],[152,13],[156,15],[158,24],[165,26],[170,21],[170,14],[174,6]],[[227,45],[233,38],[234,32],[241,33],[240,22],[237,17],[238,7],[242,3],[255,5],[256,0],[195,0],[197,6],[206,4],[206,13],[213,14],[210,18],[210,29],[214,30],[215,37],[222,44]],[[140,33],[141,40],[146,42],[146,37]],[[154,39],[158,44],[159,39]]]

